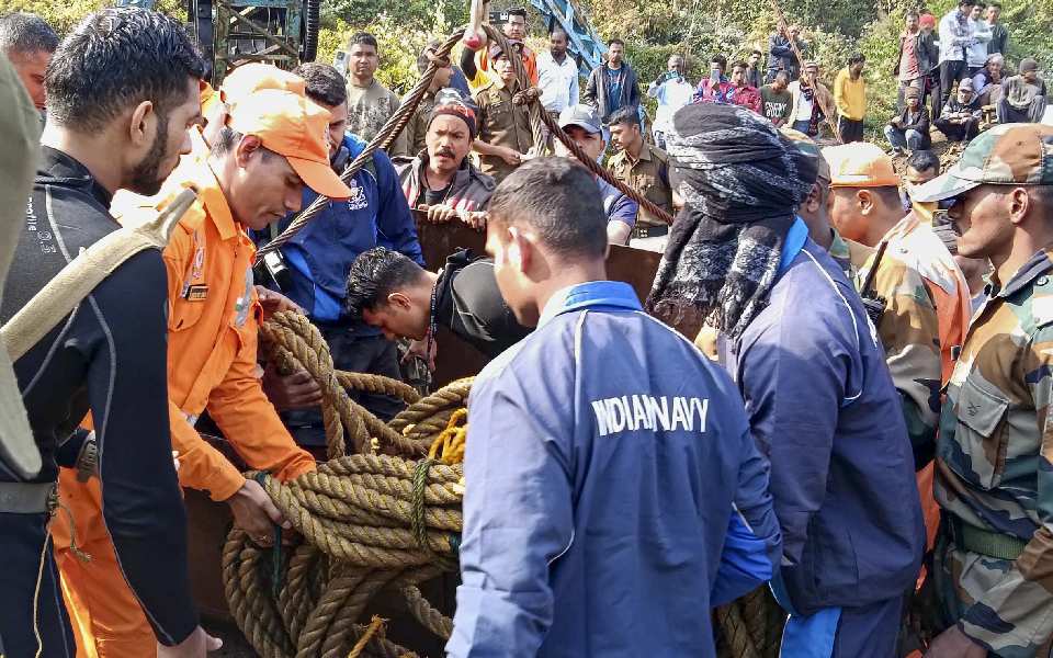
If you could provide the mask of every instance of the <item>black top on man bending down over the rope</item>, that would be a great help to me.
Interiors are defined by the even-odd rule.
[[[435,321],[492,359],[518,343],[530,329],[501,297],[494,261],[461,250],[446,259],[435,293]]]

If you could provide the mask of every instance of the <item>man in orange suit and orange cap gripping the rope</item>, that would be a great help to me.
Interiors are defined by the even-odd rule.
[[[285,481],[314,469],[256,372],[262,309],[252,285],[256,250],[246,230],[298,211],[305,185],[336,200],[348,198],[350,191],[329,166],[328,111],[287,89],[260,89],[230,101],[208,155],[184,160],[150,201],[151,208],[162,209],[180,191],[197,192],[163,254],[169,415],[180,484],[227,502],[235,526],[270,547],[275,526],[292,525],[258,481],[247,480],[205,442],[195,423],[207,410],[249,467],[267,477]],[[191,137],[201,139],[196,129]],[[95,532],[98,489],[94,483],[77,487],[65,475],[78,546],[93,557],[83,564],[70,554],[61,564],[84,644],[93,643],[100,657],[148,656],[147,619],[136,613],[134,597],[115,571],[105,534]]]

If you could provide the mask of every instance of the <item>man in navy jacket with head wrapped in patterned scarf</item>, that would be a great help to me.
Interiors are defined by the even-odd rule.
[[[677,113],[684,208],[649,307],[706,321],[771,464],[783,656],[895,651],[925,541],[899,399],[862,300],[795,216],[816,179],[769,122],[714,103]]]

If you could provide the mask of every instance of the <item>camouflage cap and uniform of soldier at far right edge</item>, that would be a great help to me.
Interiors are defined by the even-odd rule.
[[[915,190],[1053,185],[1053,128],[1007,124]],[[1008,220],[1007,220],[1008,222]],[[1053,636],[1053,246],[992,280],[947,387],[937,446],[943,525],[937,589],[947,625],[996,656],[1048,656]]]

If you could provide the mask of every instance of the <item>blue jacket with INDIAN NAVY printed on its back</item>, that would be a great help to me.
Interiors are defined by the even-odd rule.
[[[557,293],[468,427],[451,656],[711,657],[779,559],[738,392],[624,283]]]

